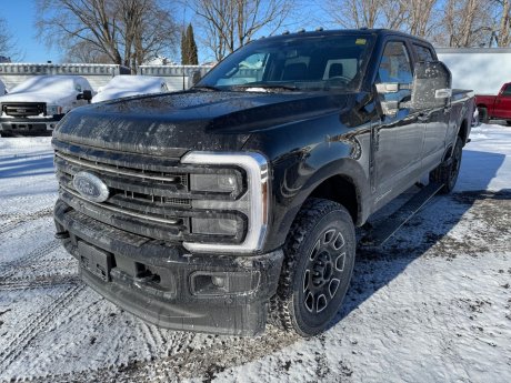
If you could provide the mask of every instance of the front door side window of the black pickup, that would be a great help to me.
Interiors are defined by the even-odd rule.
[[[412,83],[413,74],[410,62],[410,54],[408,53],[404,42],[390,41],[385,46],[383,57],[378,69],[377,82],[391,82],[391,83]],[[385,101],[408,101],[411,91],[408,89],[400,90],[398,93],[384,94]]]

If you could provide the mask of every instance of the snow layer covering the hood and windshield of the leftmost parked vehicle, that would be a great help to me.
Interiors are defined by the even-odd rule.
[[[12,88],[9,94],[0,98],[0,102],[58,102],[80,93],[77,89],[78,79],[87,81],[79,75],[36,75]]]

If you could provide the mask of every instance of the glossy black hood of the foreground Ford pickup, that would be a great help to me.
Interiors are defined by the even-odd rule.
[[[345,105],[348,94],[186,91],[77,108],[58,140],[154,155],[241,150],[253,131],[312,119]]]

